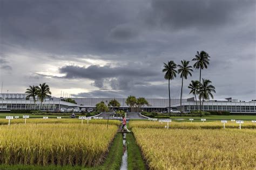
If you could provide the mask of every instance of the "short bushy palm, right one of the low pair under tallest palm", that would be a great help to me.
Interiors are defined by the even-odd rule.
[[[207,80],[207,79],[203,79],[203,82],[201,84],[201,92],[199,95],[199,98],[203,98],[203,103],[204,100],[209,100],[210,96],[213,99],[213,93],[216,93],[215,91],[215,87],[211,85],[212,81]],[[202,105],[203,105],[202,103]]]

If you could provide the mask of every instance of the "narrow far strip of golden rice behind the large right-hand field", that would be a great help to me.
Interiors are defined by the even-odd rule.
[[[129,122],[130,128],[157,128],[164,129],[166,122],[161,124],[156,121],[131,121]],[[228,121],[225,123],[226,129],[238,129],[239,124],[235,122]],[[215,122],[171,122],[169,123],[169,129],[223,129],[223,123],[220,121]],[[256,123],[251,121],[244,121],[244,124],[241,124],[241,129],[256,129]]]

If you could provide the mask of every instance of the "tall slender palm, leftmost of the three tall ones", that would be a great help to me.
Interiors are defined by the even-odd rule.
[[[168,61],[167,64],[164,62],[164,69],[162,72],[165,72],[164,78],[168,80],[169,87],[169,116],[171,116],[171,96],[170,96],[170,80],[173,80],[176,77],[177,65],[174,61]]]

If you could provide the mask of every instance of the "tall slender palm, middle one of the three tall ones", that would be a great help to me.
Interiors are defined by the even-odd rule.
[[[192,76],[191,72],[193,72],[193,70],[191,69],[192,66],[189,66],[190,61],[186,61],[186,60],[181,60],[181,65],[178,65],[179,69],[178,69],[178,73],[180,74],[180,78],[181,80],[181,93],[180,93],[180,116],[181,116],[181,98],[182,98],[182,89],[183,89],[183,79],[187,79],[187,76],[190,75]]]

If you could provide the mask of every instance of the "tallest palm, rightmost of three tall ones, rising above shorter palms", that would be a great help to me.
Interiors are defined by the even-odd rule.
[[[208,55],[208,53],[206,53],[205,51],[201,51],[200,53],[197,52],[197,54],[195,55],[195,58],[192,59],[192,61],[196,61],[196,63],[194,63],[194,68],[196,69],[200,69],[200,76],[199,76],[199,85],[201,84],[201,70],[206,68],[207,69],[207,65],[209,65],[209,61],[210,56]],[[199,86],[199,93],[201,86]],[[200,94],[199,94],[200,95]],[[199,102],[200,102],[200,111],[201,111],[201,99],[199,98]]]

